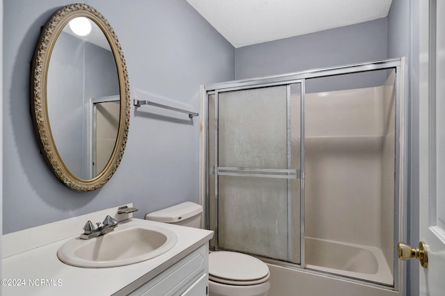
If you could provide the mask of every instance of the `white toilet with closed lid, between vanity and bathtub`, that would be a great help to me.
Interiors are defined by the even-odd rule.
[[[146,220],[201,227],[202,206],[184,202],[148,213]],[[217,251],[209,254],[209,296],[266,296],[270,288],[269,268],[252,256]]]

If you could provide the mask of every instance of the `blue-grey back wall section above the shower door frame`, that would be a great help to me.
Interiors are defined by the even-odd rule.
[[[236,49],[236,79],[387,58],[387,19]]]

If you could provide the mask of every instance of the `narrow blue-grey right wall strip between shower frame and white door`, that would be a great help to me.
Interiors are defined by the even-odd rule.
[[[393,0],[388,19],[388,56],[405,56],[405,94],[409,109],[407,157],[408,201],[405,205],[406,239],[419,243],[419,1]],[[405,295],[419,293],[419,263],[407,262]]]

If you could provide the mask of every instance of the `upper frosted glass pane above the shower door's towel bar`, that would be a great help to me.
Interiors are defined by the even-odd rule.
[[[224,92],[218,101],[218,166],[287,167],[286,86]]]

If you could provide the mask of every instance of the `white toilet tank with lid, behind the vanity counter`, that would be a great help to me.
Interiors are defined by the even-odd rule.
[[[183,202],[169,208],[148,213],[145,215],[145,220],[201,228],[201,216],[202,206],[200,204]]]

